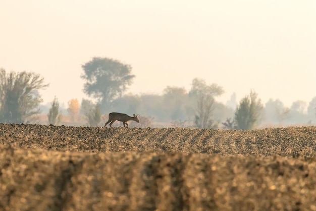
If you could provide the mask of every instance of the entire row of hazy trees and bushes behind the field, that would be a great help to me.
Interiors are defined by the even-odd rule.
[[[264,106],[254,90],[239,103],[236,102],[235,108],[229,108],[216,100],[224,93],[223,87],[215,83],[206,84],[205,80],[198,78],[192,80],[189,91],[182,87],[167,86],[163,95],[124,94],[135,76],[131,74],[130,65],[114,59],[92,58],[82,65],[82,70],[81,78],[85,80],[83,92],[96,103],[82,99],[79,104],[77,99],[71,99],[67,112],[73,122],[78,121],[78,114],[81,113],[90,126],[99,125],[102,114],[113,111],[141,114],[143,127],[155,120],[169,121],[173,127],[226,129],[255,129],[264,115],[272,116],[280,124],[295,114],[290,114],[293,108],[286,108],[280,100],[271,99]],[[40,114],[38,106],[42,102],[39,91],[46,87],[48,84],[39,74],[6,73],[1,69],[0,122],[36,123]],[[233,96],[231,100],[234,102]],[[308,113],[312,109],[316,116],[316,97],[310,104]],[[300,103],[292,107],[299,110]],[[273,112],[265,112],[265,109]],[[51,102],[47,118],[48,124],[52,125],[58,125],[61,121],[57,97]]]

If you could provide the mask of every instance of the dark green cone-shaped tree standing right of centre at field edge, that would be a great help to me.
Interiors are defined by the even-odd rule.
[[[240,100],[239,105],[237,105],[235,122],[239,129],[254,129],[259,122],[263,106],[261,100],[256,99],[257,95],[257,93],[251,90],[250,97],[248,95],[245,96]]]

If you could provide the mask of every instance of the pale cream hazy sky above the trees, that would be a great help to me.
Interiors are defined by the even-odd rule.
[[[92,57],[130,64],[128,92],[190,89],[203,78],[240,100],[254,89],[287,106],[316,96],[316,1],[4,1],[0,67],[49,83],[44,103],[81,101],[81,65]]]

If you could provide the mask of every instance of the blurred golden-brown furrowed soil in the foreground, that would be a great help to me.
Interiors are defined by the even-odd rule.
[[[4,210],[316,210],[313,160],[0,145],[0,161]]]

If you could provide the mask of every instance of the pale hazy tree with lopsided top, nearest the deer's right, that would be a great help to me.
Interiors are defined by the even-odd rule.
[[[212,112],[215,98],[224,93],[223,87],[213,83],[206,85],[203,79],[194,78],[189,96],[195,101],[194,124],[197,128],[209,128],[214,124]]]

